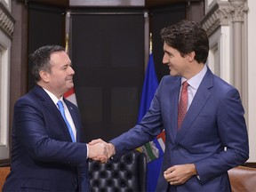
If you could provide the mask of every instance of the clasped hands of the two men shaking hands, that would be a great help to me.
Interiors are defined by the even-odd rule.
[[[92,140],[88,143],[89,158],[100,161],[100,163],[107,163],[111,156],[116,153],[115,146],[112,143],[107,143],[104,140]]]

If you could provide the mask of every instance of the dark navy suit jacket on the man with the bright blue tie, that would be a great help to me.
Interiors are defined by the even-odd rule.
[[[64,102],[76,125],[77,142],[72,142],[59,109],[41,86],[17,100],[11,173],[3,191],[90,191],[78,108]]]

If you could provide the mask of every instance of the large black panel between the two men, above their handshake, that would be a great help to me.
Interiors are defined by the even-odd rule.
[[[85,138],[110,140],[136,124],[144,74],[143,10],[71,12],[70,53]]]

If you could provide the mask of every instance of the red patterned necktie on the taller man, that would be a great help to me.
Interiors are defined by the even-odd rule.
[[[188,108],[188,82],[185,81],[182,84],[180,93],[180,102],[178,107],[178,128],[180,128],[182,121],[187,113]]]

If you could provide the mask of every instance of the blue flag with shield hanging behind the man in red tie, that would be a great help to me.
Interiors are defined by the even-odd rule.
[[[149,55],[148,67],[144,78],[144,84],[140,99],[140,111],[138,116],[138,123],[142,117],[147,113],[151,101],[156,92],[158,80],[156,77],[156,70],[153,60],[153,54]],[[146,154],[148,159],[147,165],[147,191],[155,192],[156,184],[163,160],[165,148],[165,132],[161,132],[153,141],[148,142],[144,146],[138,148],[140,152]]]

